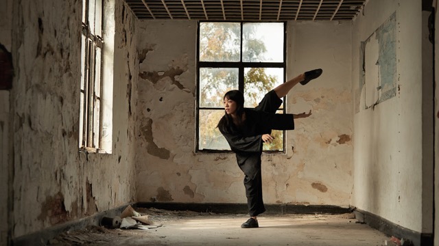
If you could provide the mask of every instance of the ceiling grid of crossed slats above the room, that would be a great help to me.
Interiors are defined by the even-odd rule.
[[[353,20],[367,0],[124,0],[139,20]]]

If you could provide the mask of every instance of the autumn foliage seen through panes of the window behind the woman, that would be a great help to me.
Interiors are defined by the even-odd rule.
[[[262,40],[254,38],[254,25],[246,26],[244,33],[243,60],[259,61],[267,51]],[[200,61],[239,61],[241,45],[239,23],[200,23]],[[244,96],[246,107],[256,107],[262,96],[272,90],[276,77],[265,68],[246,68],[244,74]],[[229,90],[238,89],[237,68],[200,68],[200,107],[222,109],[223,96]],[[200,109],[200,149],[230,149],[216,128],[223,110]],[[273,131],[271,144],[264,150],[283,150],[283,132]]]

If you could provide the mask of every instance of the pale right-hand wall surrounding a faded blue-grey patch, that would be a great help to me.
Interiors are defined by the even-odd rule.
[[[353,93],[360,89],[361,42],[395,12],[396,96],[375,107],[360,107],[354,115],[353,205],[404,228],[429,233],[431,226],[423,226],[421,219],[429,213],[423,212],[423,204],[431,190],[423,189],[428,173],[423,167],[422,66],[431,61],[423,61],[421,54],[420,1],[368,1],[353,23]],[[354,96],[363,105],[365,98]]]

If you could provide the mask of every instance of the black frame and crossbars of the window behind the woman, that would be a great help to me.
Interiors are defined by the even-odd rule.
[[[241,45],[239,61],[200,61],[200,23],[240,23],[241,25]],[[242,61],[243,55],[243,25],[244,23],[283,23],[283,62],[248,62]],[[196,102],[195,102],[195,153],[229,153],[232,150],[200,150],[200,111],[201,110],[224,110],[217,107],[200,107],[200,68],[237,68],[238,72],[238,90],[244,93],[244,70],[245,68],[283,68],[283,83],[285,83],[287,72],[287,23],[285,21],[198,21],[197,27],[197,51],[196,51]],[[283,97],[283,113],[287,111],[287,98]],[[283,150],[263,150],[263,154],[285,154],[286,153],[286,131],[283,131]]]

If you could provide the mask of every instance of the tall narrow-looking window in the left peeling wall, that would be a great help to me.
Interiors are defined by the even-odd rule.
[[[102,133],[102,0],[82,0],[80,150],[98,152]]]

